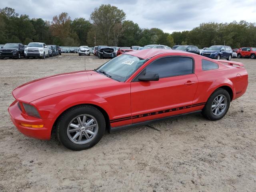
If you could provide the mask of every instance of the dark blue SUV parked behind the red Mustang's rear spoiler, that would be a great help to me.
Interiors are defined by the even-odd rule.
[[[233,51],[230,46],[213,45],[207,50],[204,50],[201,55],[212,59],[227,59],[230,61],[232,58],[232,52]]]

